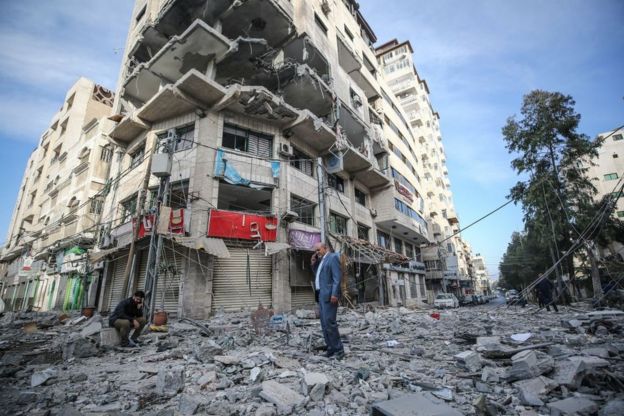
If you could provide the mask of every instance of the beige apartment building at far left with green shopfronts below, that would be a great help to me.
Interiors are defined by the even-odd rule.
[[[112,105],[111,91],[80,78],[30,155],[0,256],[7,309],[95,302],[101,268],[86,253],[96,241],[113,156],[103,133]]]

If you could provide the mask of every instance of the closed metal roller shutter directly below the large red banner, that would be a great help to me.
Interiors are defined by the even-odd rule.
[[[256,309],[258,303],[264,307],[272,304],[272,261],[264,250],[230,248],[229,258],[218,258],[214,266],[212,283],[212,309],[236,311]],[[247,254],[249,253],[249,275],[251,296],[247,281]]]

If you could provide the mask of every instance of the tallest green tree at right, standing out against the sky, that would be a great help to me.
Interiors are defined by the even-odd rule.
[[[510,196],[522,204],[529,240],[550,254],[551,264],[578,237],[573,225],[580,213],[588,212],[596,193],[579,161],[591,163],[600,143],[577,132],[581,116],[574,104],[569,95],[532,91],[524,96],[520,119],[510,117],[502,130],[508,151],[516,156],[512,167],[528,176]],[[572,256],[561,267],[574,278]]]

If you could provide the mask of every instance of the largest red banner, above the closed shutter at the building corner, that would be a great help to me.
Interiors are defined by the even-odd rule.
[[[277,217],[213,209],[208,219],[208,236],[275,241]]]

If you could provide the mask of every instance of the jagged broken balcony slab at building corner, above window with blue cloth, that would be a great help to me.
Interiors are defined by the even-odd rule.
[[[238,84],[229,87],[227,95],[215,106],[217,111],[226,109],[278,125],[291,123],[299,114],[296,109],[266,88]]]

